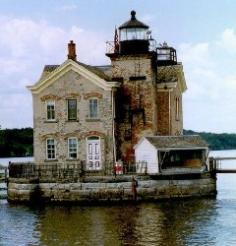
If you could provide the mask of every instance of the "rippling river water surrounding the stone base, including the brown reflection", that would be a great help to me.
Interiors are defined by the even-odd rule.
[[[217,186],[216,199],[137,205],[39,208],[0,200],[0,245],[236,245],[236,174],[219,174]]]

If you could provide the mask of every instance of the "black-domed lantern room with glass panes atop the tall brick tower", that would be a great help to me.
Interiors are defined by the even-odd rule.
[[[136,19],[131,11],[131,19],[119,27],[120,54],[141,54],[149,51],[149,26]]]

